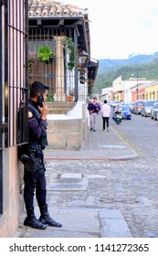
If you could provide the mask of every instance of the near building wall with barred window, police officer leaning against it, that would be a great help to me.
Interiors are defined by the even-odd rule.
[[[20,102],[27,102],[27,32],[27,1],[1,1],[0,237],[14,235],[21,207],[17,145],[26,142],[27,125],[17,118],[17,112]],[[20,137],[17,123],[23,127]]]

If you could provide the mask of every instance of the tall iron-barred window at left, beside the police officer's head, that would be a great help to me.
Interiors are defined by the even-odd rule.
[[[27,1],[1,1],[0,6],[0,213],[3,213],[3,149],[19,143],[17,123],[23,123],[20,143],[27,139],[26,120],[17,118],[21,101],[27,102]],[[3,23],[2,24],[2,20]],[[2,43],[3,38],[3,43]],[[24,121],[25,120],[25,121]],[[9,197],[9,195],[7,195]]]

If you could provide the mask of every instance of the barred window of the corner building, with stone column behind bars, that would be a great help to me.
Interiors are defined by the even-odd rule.
[[[29,84],[39,80],[47,84],[49,92],[54,96],[53,101],[67,101],[70,91],[79,90],[78,37],[75,29],[39,28],[34,27],[30,21],[28,46],[28,56],[30,61],[32,59],[28,70]],[[48,61],[38,58],[41,46],[50,48],[53,53]],[[75,100],[78,101],[77,97]]]

